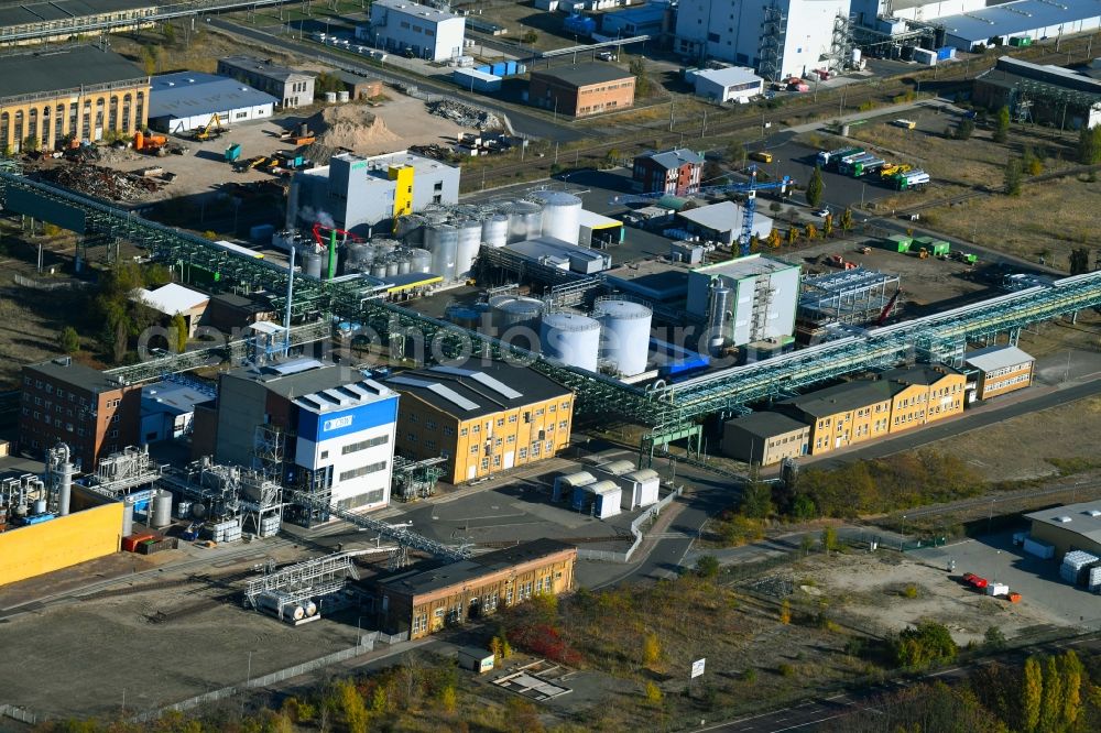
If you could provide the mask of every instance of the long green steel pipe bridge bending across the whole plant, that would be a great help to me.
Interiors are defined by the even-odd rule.
[[[39,216],[56,207],[68,210],[66,220],[72,221],[72,212],[78,210],[84,217],[85,229],[78,233],[126,239],[150,250],[163,262],[190,261],[217,267],[226,276],[271,292],[286,289],[286,271],[264,260],[233,255],[195,234],[148,221],[68,190],[0,172],[0,200],[7,201],[12,190],[22,192],[20,200],[25,200],[29,194],[42,199],[42,205],[35,207]],[[615,415],[650,426],[651,433],[643,439],[644,450],[682,438],[698,441],[698,419],[708,415],[735,414],[755,402],[791,395],[843,374],[895,365],[911,357],[959,364],[969,341],[989,341],[1000,333],[1009,333],[1010,341],[1016,342],[1023,326],[1101,306],[1101,272],[1091,272],[827,341],[764,362],[733,366],[675,384],[658,382],[643,389],[601,374],[553,364],[538,354],[489,336],[370,299],[355,281],[319,282],[303,277],[296,285],[296,313],[330,313],[363,324],[396,346],[423,338],[425,344],[435,347],[425,349],[426,353],[446,358],[469,354],[472,350],[531,363],[574,389],[579,411]],[[192,354],[181,354],[175,365],[167,363],[171,360],[171,357],[159,360],[165,361],[157,368],[160,373],[200,365],[194,363]]]

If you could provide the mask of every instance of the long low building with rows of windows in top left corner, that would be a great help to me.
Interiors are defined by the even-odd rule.
[[[99,32],[110,24],[112,33],[122,33],[152,23],[143,20],[155,14],[150,0],[40,0],[6,3],[0,8],[0,43],[6,46],[68,41],[74,36]],[[129,21],[129,22],[128,22]],[[29,33],[46,33],[26,37]]]

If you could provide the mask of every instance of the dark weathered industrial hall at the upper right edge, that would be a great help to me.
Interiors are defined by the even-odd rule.
[[[974,80],[972,100],[990,109],[1009,107],[1018,119],[1071,130],[1101,124],[1101,79],[1010,56]]]

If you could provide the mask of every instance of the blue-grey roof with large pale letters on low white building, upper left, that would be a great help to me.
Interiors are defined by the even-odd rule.
[[[243,107],[275,105],[280,100],[228,76],[176,72],[152,78],[149,117],[195,117]],[[231,120],[232,121],[232,120]]]

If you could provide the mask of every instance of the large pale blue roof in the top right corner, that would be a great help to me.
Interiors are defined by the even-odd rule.
[[[945,15],[936,20],[945,32],[971,43],[986,41],[994,36],[1027,33],[1057,25],[1097,18],[1101,6],[1097,0],[1016,0],[1000,6],[988,6],[958,15]]]

